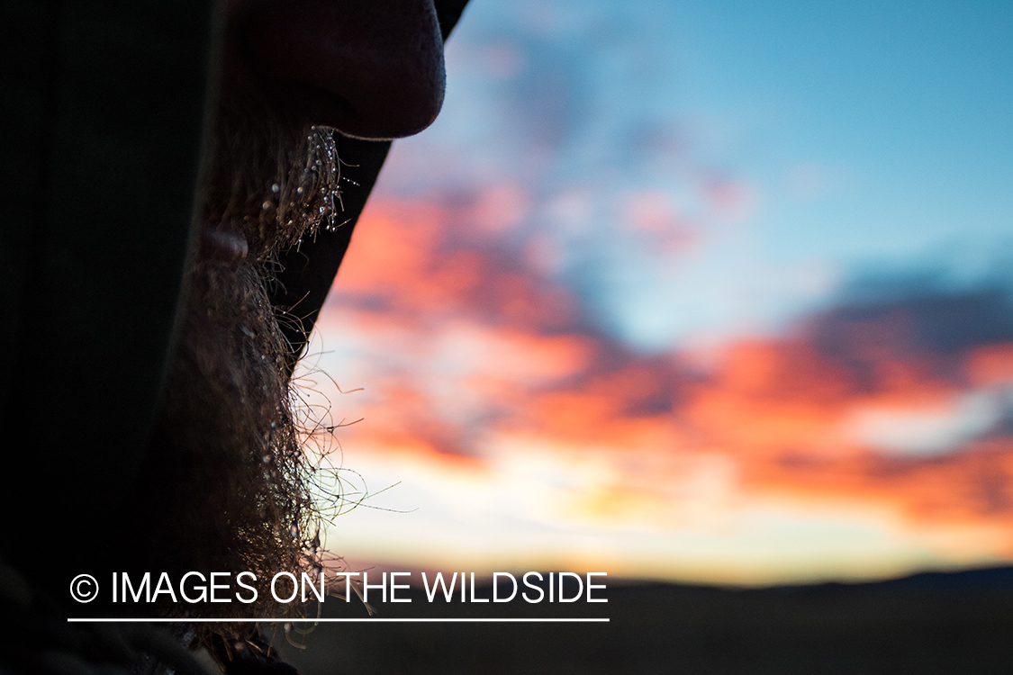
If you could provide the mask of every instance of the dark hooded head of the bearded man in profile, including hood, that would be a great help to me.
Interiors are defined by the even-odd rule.
[[[34,436],[8,446],[0,556],[35,587],[313,564],[290,378],[389,140],[440,110],[463,6],[12,10],[0,408]]]

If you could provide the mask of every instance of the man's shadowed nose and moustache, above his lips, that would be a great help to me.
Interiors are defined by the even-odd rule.
[[[337,158],[316,128],[392,139],[443,104],[432,0],[229,0],[223,33],[205,226],[241,222],[255,255],[297,240],[301,218],[330,215]]]

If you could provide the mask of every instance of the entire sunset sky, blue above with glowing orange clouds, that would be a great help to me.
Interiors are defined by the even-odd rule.
[[[297,373],[308,427],[355,422],[313,435],[326,545],[746,585],[1013,561],[1010,35],[1004,2],[472,0]]]

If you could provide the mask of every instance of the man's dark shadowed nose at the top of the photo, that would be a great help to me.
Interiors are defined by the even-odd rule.
[[[390,139],[425,129],[443,105],[432,0],[238,0],[229,22],[267,95],[311,123]]]

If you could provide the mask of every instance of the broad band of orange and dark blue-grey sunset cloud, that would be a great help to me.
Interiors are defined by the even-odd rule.
[[[367,388],[334,399],[366,418],[340,431],[343,446],[459,457],[478,483],[504,457],[537,481],[537,457],[555,457],[570,478],[518,508],[556,522],[665,530],[789,499],[916,529],[998,527],[982,555],[1013,557],[1013,331],[999,286],[885,284],[707,362],[645,355],[597,329],[512,229],[469,228],[474,203],[388,197],[364,216],[320,324],[339,352],[323,366]],[[518,499],[535,494],[522,483]]]

